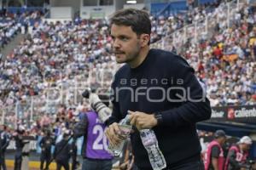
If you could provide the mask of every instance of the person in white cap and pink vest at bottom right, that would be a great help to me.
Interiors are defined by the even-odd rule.
[[[248,151],[253,144],[248,136],[242,137],[239,142],[230,147],[224,170],[242,170],[247,167]]]

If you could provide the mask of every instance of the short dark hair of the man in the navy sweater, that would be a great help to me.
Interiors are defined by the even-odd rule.
[[[131,30],[137,35],[151,33],[151,22],[149,15],[144,10],[136,8],[125,8],[116,11],[110,18],[110,25],[131,26]]]

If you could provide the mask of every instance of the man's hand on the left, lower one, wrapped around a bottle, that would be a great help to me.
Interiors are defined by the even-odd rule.
[[[121,131],[119,129],[119,124],[116,122],[113,122],[106,130],[105,132],[109,144],[110,145],[118,145],[124,140],[126,137],[121,135]]]

